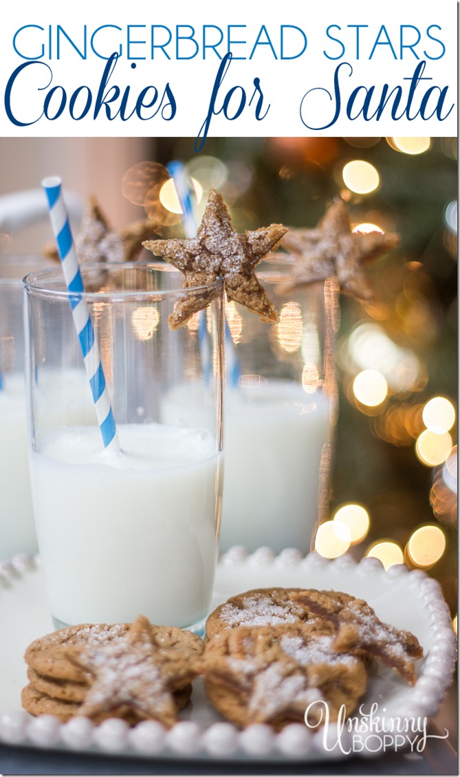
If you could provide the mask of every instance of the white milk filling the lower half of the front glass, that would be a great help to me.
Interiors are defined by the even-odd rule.
[[[191,625],[207,613],[217,556],[220,455],[207,430],[120,424],[49,434],[31,458],[51,612],[65,624]]]

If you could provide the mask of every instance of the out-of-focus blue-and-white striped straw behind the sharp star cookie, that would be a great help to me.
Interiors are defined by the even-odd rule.
[[[167,166],[169,175],[174,181],[177,197],[182,209],[183,230],[187,238],[194,238],[197,235],[197,216],[195,214],[196,195],[190,176],[186,175],[183,162],[174,160]],[[204,311],[201,310],[198,320],[198,340],[200,343],[201,364],[203,366],[204,378],[206,381],[211,376],[211,354],[207,344],[206,320]],[[239,361],[235,352],[232,333],[228,327],[225,318],[225,370],[230,378],[230,385],[237,386],[239,382]]]

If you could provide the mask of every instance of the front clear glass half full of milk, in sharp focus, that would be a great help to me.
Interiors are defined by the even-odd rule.
[[[204,326],[195,316],[173,331],[176,302],[203,293],[183,291],[177,270],[83,265],[82,275],[121,454],[103,448],[61,267],[24,281],[33,507],[51,613],[58,626],[143,614],[199,629],[221,510],[223,283]],[[184,401],[166,423],[163,398],[178,385]]]

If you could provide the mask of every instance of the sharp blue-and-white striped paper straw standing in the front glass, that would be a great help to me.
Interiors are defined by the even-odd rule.
[[[59,256],[61,257],[62,270],[65,284],[70,293],[69,301],[78,333],[78,340],[82,347],[85,361],[86,374],[92,392],[92,399],[96,409],[96,417],[103,438],[104,448],[112,448],[120,451],[120,443],[117,436],[117,428],[113,418],[109,392],[107,391],[106,378],[103,373],[99,347],[89,315],[89,307],[82,297],[85,291],[82,274],[78,265],[75,244],[71,235],[67,208],[62,197],[61,179],[58,177],[45,178],[42,186],[47,194],[50,207],[51,225],[54,237],[58,243]]]

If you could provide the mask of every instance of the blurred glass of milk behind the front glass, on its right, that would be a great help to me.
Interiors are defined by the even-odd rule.
[[[257,268],[279,323],[270,326],[235,303],[226,315],[225,475],[220,548],[269,546],[308,552],[329,507],[329,469],[336,423],[333,282],[283,291],[291,266]],[[200,392],[200,387],[196,387]],[[182,402],[166,403],[172,422]]]

